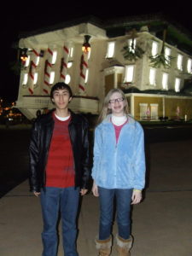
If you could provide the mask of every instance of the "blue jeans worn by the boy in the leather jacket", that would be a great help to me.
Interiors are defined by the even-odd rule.
[[[41,191],[44,220],[42,240],[43,256],[56,256],[58,247],[57,224],[59,212],[62,220],[62,240],[65,256],[78,256],[76,249],[76,218],[79,208],[79,188],[60,189],[48,187]]]

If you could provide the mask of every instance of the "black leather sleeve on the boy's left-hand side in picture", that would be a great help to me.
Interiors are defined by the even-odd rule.
[[[38,122],[32,127],[32,135],[29,143],[29,183],[30,191],[40,192],[38,179],[38,160],[39,160],[39,139],[38,139]]]

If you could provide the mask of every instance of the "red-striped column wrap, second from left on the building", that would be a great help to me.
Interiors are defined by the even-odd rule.
[[[48,48],[48,59],[45,61],[44,67],[44,88],[43,91],[46,95],[49,94],[49,79],[50,79],[50,71],[51,71],[51,61],[53,58],[53,51]]]

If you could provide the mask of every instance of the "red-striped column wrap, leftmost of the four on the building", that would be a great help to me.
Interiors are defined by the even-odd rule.
[[[37,63],[37,59],[39,57],[39,53],[38,50],[32,49],[32,61],[30,63],[30,67],[29,67],[29,80],[28,80],[28,90],[30,92],[30,94],[33,94],[33,90],[34,90],[34,74],[36,71],[36,63]]]

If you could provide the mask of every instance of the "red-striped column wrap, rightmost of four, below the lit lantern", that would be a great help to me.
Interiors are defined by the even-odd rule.
[[[79,79],[79,93],[84,94],[85,92],[85,76],[88,69],[88,52],[84,52],[81,55],[80,62],[80,79]]]

